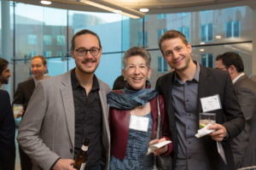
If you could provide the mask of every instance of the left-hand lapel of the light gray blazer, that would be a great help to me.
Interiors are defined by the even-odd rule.
[[[62,104],[65,111],[66,116],[66,123],[67,129],[69,133],[70,140],[74,146],[74,105],[73,105],[73,90],[71,84],[71,75],[70,71],[63,75],[62,80],[62,87],[61,87],[61,97],[62,97]]]

